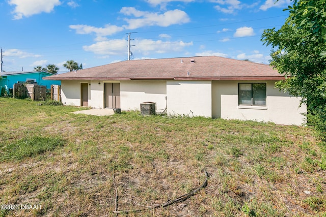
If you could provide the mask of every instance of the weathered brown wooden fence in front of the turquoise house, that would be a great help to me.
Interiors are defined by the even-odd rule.
[[[14,98],[31,98],[33,101],[44,100],[46,98],[46,86],[37,84],[14,84]]]

